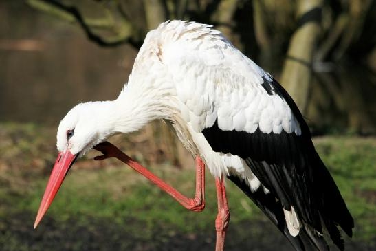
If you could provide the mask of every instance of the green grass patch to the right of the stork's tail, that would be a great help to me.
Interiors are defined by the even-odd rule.
[[[376,241],[375,138],[323,138],[316,148],[355,219],[355,241]]]

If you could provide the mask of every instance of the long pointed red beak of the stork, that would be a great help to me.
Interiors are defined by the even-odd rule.
[[[60,188],[61,184],[63,183],[65,175],[67,175],[69,168],[74,163],[77,156],[78,154],[73,155],[69,150],[58,154],[51,176],[49,176],[49,180],[45,188],[45,194],[43,195],[41,206],[39,206],[38,215],[36,215],[34,229],[36,226],[38,226],[39,222],[41,222],[45,212],[47,212],[49,208],[49,205],[52,204],[56,193],[58,193],[58,188]]]

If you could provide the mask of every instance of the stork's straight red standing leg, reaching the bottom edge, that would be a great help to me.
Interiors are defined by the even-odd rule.
[[[215,179],[218,201],[218,215],[217,219],[215,219],[215,230],[217,230],[217,241],[215,244],[216,251],[223,251],[223,248],[225,247],[226,230],[230,221],[230,211],[228,210],[226,189],[223,182],[223,175],[221,179]]]

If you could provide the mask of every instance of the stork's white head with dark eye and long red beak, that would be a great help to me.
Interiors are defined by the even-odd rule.
[[[82,103],[71,109],[60,121],[56,135],[58,157],[49,177],[34,228],[47,212],[76,159],[111,135],[111,127],[108,122],[104,122],[103,116],[100,116],[108,113],[108,106],[108,102]]]

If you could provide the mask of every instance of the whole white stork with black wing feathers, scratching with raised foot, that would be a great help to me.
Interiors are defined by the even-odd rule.
[[[152,120],[170,124],[197,156],[196,196],[189,199],[108,142]],[[34,228],[69,168],[91,149],[135,168],[189,210],[204,208],[204,168],[216,177],[216,250],[223,250],[230,214],[224,178],[261,208],[296,250],[329,250],[323,235],[344,250],[353,218],[311,133],[276,80],[210,25],[167,21],[148,32],[129,81],[113,101],[76,105],[61,120],[58,158]]]

